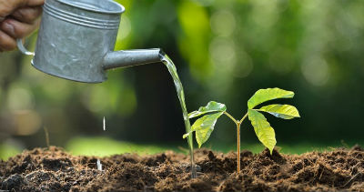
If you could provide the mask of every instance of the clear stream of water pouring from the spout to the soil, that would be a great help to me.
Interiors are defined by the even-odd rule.
[[[167,66],[168,71],[173,78],[173,82],[175,83],[176,90],[177,90],[177,96],[178,96],[179,103],[181,104],[181,108],[182,108],[183,119],[185,121],[186,133],[189,133],[191,130],[191,125],[189,123],[189,118],[188,118],[188,114],[187,114],[185,93],[183,91],[182,83],[179,80],[179,77],[177,74],[177,68],[176,68],[175,64],[172,62],[172,60],[166,54],[160,55],[160,56],[161,56],[161,61]],[[191,176],[192,176],[192,178],[196,178],[196,167],[195,167],[194,154],[193,154],[193,137],[192,136],[193,135],[190,134],[187,137],[187,140],[188,140],[188,146],[189,146],[189,151],[190,151],[189,154],[190,154],[190,158],[191,158],[191,174],[192,174]]]

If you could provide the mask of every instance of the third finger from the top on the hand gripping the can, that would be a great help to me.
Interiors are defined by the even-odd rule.
[[[7,35],[13,38],[23,38],[26,35],[30,35],[36,27],[39,25],[39,19],[35,21],[35,24],[25,24],[15,19],[6,19],[1,25],[0,29]]]

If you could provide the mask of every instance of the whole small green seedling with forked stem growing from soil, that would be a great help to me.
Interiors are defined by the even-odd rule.
[[[227,113],[227,106],[224,104],[217,103],[215,101],[208,102],[207,106],[202,106],[198,109],[198,111],[191,112],[188,114],[189,118],[194,118],[197,116],[202,116],[198,118],[195,123],[191,127],[191,131],[185,135],[183,138],[186,138],[193,132],[196,132],[196,140],[198,143],[198,147],[201,147],[204,144],[208,137],[211,135],[214,130],[214,126],[217,122],[217,118],[225,114],[231,120],[235,122],[237,125],[238,132],[238,173],[240,172],[240,125],[247,118],[250,120],[251,125],[254,127],[254,131],[258,136],[259,141],[265,146],[268,147],[270,154],[273,152],[273,148],[276,146],[276,134],[274,129],[268,123],[267,119],[260,112],[266,112],[273,116],[277,116],[283,119],[292,119],[294,117],[300,117],[298,110],[295,106],[289,105],[268,105],[262,106],[260,108],[254,108],[259,104],[262,104],[266,101],[278,99],[278,98],[292,98],[295,95],[292,91],[286,91],[280,88],[267,88],[267,89],[259,89],[254,96],[252,96],[248,100],[248,112],[245,116],[243,116],[239,121],[235,119],[233,116]]]

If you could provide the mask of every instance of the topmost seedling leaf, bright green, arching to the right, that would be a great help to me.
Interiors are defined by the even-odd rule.
[[[267,89],[259,89],[254,96],[248,100],[248,108],[252,109],[259,104],[277,99],[277,98],[292,98],[295,96],[295,93],[292,91],[286,91],[280,88],[267,88]]]

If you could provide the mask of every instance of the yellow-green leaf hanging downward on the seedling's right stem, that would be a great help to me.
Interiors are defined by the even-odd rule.
[[[272,154],[277,141],[274,129],[269,125],[267,118],[258,111],[252,109],[248,109],[248,118],[251,125],[254,126],[254,131],[256,132],[259,141],[265,147],[268,147],[270,154]]]

